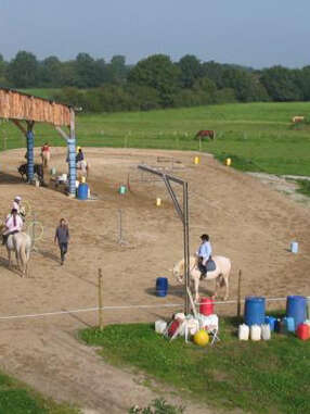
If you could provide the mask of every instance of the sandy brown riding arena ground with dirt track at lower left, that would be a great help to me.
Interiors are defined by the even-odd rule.
[[[310,294],[310,210],[306,205],[209,155],[202,155],[201,163],[194,165],[197,154],[190,152],[83,150],[91,165],[88,183],[94,200],[90,201],[68,199],[49,176],[47,188],[23,184],[16,168],[25,150],[1,152],[1,218],[18,195],[30,203],[44,233],[31,253],[29,278],[22,279],[17,272],[8,269],[7,252],[1,248],[0,316],[96,306],[99,267],[106,306],[182,303],[182,291],[170,273],[183,254],[181,222],[164,183],[138,172],[140,163],[165,167],[188,180],[191,254],[199,235],[208,233],[215,254],[232,261],[231,299],[236,297],[238,269],[243,271],[243,296]],[[66,173],[65,156],[65,149],[53,149],[50,167]],[[39,162],[39,152],[36,160]],[[130,191],[121,196],[118,188],[127,185],[128,174]],[[177,187],[176,191],[181,196]],[[156,206],[156,198],[163,200],[160,206]],[[53,244],[61,217],[68,219],[72,236],[64,266]],[[288,251],[293,240],[299,243],[298,254]],[[166,298],[154,296],[158,276],[169,277]],[[202,294],[215,287],[214,283],[202,285]],[[176,310],[109,310],[104,312],[104,322],[155,321]],[[235,306],[218,306],[219,314],[232,312]],[[122,413],[131,404],[148,403],[152,391],[133,380],[133,375],[105,365],[94,350],[76,341],[77,328],[95,324],[95,312],[1,318],[1,366],[39,390],[93,413]],[[189,412],[199,413],[199,409]]]

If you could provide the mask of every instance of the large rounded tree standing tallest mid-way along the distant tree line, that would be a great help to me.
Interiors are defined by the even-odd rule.
[[[157,90],[160,103],[169,106],[173,102],[173,93],[179,89],[180,68],[165,54],[153,54],[141,60],[130,71],[130,83],[150,86]]]

